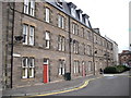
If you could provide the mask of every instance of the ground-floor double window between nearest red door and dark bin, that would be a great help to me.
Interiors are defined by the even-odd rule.
[[[66,61],[64,60],[59,60],[59,69],[58,69],[58,74],[59,75],[64,75],[66,73]]]

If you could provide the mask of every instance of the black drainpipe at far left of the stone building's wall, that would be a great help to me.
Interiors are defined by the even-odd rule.
[[[12,84],[13,84],[13,36],[14,36],[14,7],[15,7],[15,2],[13,3],[13,8],[11,8],[10,3],[9,7],[10,9],[13,11],[13,19],[12,19],[12,36],[11,36],[11,88],[13,88]]]

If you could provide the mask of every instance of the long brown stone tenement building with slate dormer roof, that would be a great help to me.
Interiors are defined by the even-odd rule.
[[[28,2],[29,1],[29,2]],[[112,42],[72,2],[2,3],[3,88],[99,74]]]

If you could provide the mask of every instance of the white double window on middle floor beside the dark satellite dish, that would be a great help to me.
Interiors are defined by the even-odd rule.
[[[23,25],[23,45],[34,46],[34,26]]]

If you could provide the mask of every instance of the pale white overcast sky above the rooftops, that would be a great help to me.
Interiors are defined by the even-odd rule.
[[[90,15],[93,28],[99,28],[118,44],[119,52],[129,50],[129,1],[131,0],[66,0]]]

